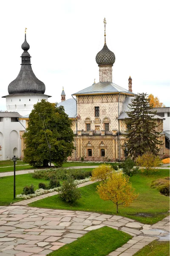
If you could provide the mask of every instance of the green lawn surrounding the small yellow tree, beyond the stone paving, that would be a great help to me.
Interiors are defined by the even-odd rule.
[[[157,189],[150,188],[150,184],[152,180],[167,176],[169,176],[169,170],[160,169],[148,176],[138,174],[130,177],[130,181],[136,192],[139,193],[139,197],[129,207],[119,206],[119,215],[145,224],[154,224],[165,218],[169,210],[169,197],[161,195]],[[96,185],[97,183],[93,183],[79,188],[82,198],[73,204],[61,201],[59,196],[55,195],[33,202],[29,206],[116,214],[116,206],[111,201],[103,201],[99,198],[96,193]]]

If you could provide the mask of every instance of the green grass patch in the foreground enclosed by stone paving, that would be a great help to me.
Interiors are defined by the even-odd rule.
[[[71,244],[62,246],[48,256],[106,256],[125,244],[131,237],[111,227],[102,227],[90,231]]]

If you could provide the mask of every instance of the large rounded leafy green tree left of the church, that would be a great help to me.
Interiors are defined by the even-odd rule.
[[[62,106],[45,99],[34,105],[26,129],[24,160],[32,166],[48,166],[51,161],[61,166],[74,149],[71,120]]]

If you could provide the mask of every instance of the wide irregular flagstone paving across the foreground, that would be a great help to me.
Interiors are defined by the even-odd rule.
[[[169,217],[152,226],[117,215],[11,205],[0,207],[0,256],[45,256],[103,226],[133,236],[109,256],[132,256],[167,236]],[[155,230],[155,228],[161,230]],[[154,230],[153,230],[154,229]]]

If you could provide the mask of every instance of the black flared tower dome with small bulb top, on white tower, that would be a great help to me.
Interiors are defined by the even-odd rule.
[[[31,68],[31,61],[30,61],[30,54],[28,53],[29,44],[26,41],[26,34],[25,34],[25,41],[22,44],[22,49],[24,50],[21,58],[21,69],[20,73],[18,74],[17,78],[12,81],[8,85],[8,93],[9,94],[16,94],[16,93],[45,93],[45,84],[37,79],[34,75],[34,72]]]

